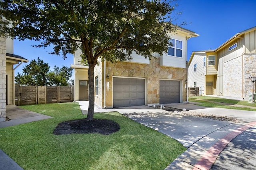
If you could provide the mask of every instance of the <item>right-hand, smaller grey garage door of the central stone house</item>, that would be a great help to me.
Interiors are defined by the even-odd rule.
[[[180,81],[160,80],[160,104],[180,103]]]

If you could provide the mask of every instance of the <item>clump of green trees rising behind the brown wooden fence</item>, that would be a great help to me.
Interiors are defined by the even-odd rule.
[[[15,76],[15,82],[26,86],[69,86],[69,79],[72,76],[72,68],[54,66],[53,71],[49,71],[50,66],[43,60],[31,60],[23,67],[22,73]]]

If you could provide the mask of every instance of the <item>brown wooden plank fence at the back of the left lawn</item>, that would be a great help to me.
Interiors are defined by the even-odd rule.
[[[73,102],[74,86],[20,86],[15,84],[15,105]]]

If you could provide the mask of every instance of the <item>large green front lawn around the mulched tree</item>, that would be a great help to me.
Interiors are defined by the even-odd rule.
[[[58,123],[86,117],[77,103],[22,108],[54,117],[0,129],[0,148],[25,170],[160,170],[186,150],[174,139],[118,112],[94,114],[120,125],[111,135],[53,135]]]

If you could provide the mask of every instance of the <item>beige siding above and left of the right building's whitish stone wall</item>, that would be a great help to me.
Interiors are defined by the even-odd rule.
[[[228,51],[228,48],[236,43],[237,47],[232,49],[231,51]],[[226,47],[218,51],[218,74],[216,80],[216,95],[223,96],[223,64],[227,61],[231,61],[236,57],[242,56],[242,53],[244,52],[243,44],[244,39],[236,39],[234,41],[231,41],[226,45]]]

